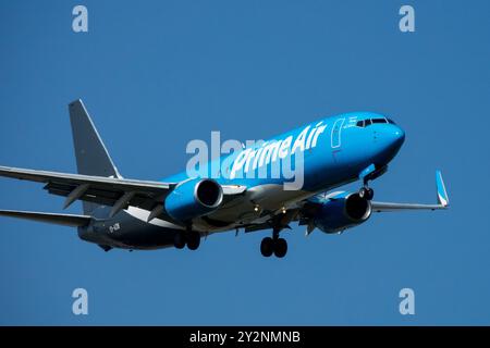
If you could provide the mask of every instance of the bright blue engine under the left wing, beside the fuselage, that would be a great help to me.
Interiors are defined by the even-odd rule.
[[[167,196],[167,213],[177,221],[188,221],[213,212],[223,200],[221,185],[209,178],[182,183]]]

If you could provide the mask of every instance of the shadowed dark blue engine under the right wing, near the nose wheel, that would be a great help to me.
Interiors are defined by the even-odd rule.
[[[315,214],[315,226],[324,233],[335,233],[366,222],[371,215],[371,203],[359,194],[350,194],[322,203]]]

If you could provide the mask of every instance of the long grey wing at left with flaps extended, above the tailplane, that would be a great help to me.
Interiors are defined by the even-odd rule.
[[[114,207],[114,213],[127,204],[152,210],[162,203],[173,183],[133,181],[81,174],[66,174],[0,166],[0,176],[45,183],[48,192],[66,197],[64,208],[75,200]],[[117,211],[115,211],[117,210]]]

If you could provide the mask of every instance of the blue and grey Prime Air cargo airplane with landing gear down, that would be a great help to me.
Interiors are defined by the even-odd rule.
[[[65,197],[63,209],[81,200],[83,214],[0,210],[0,215],[77,227],[81,239],[105,251],[185,246],[196,250],[201,238],[215,233],[270,229],[260,252],[283,258],[287,243],[280,233],[291,229],[291,223],[306,226],[307,236],[315,228],[340,234],[365,223],[373,212],[449,207],[440,171],[436,171],[437,203],[373,200],[369,182],[387,172],[405,140],[404,130],[379,113],[324,117],[244,147],[222,157],[229,175],[191,176],[186,171],[162,181],[123,177],[82,100],[71,102],[69,113],[77,174],[0,166],[0,176],[45,184],[49,194]],[[284,175],[249,175],[270,172],[274,163],[299,154],[299,189],[285,189]],[[334,190],[357,181],[357,191]]]

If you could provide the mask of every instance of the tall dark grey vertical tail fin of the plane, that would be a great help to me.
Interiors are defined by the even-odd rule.
[[[82,100],[71,102],[69,111],[78,174],[121,177]],[[97,204],[83,202],[83,207],[88,214]]]

